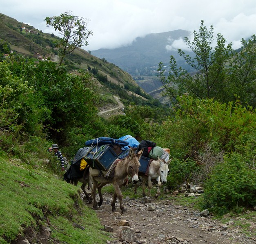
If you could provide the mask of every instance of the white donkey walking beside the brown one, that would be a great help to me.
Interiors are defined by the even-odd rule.
[[[148,181],[149,197],[151,197],[151,188],[152,188],[151,179],[156,179],[158,187],[157,187],[155,198],[158,198],[158,196],[160,195],[160,187],[162,185],[161,181],[163,184],[167,182],[167,174],[169,172],[168,165],[170,162],[171,162],[171,159],[165,162],[165,160],[158,158],[157,160],[151,161],[147,175],[139,172],[139,176],[141,176],[142,178],[142,195],[143,196],[146,196],[145,185],[146,185],[146,181]],[[160,178],[161,178],[161,181],[160,181]],[[134,194],[137,194],[137,184],[134,187]]]

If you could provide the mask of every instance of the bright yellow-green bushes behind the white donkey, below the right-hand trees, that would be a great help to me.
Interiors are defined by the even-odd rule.
[[[205,144],[226,152],[234,152],[240,143],[252,147],[256,116],[251,108],[246,109],[239,103],[227,105],[213,99],[198,100],[188,96],[178,101],[175,117],[163,122],[158,130],[160,142],[165,142],[171,151],[179,150],[194,156],[195,151]],[[250,140],[246,139],[248,136]]]

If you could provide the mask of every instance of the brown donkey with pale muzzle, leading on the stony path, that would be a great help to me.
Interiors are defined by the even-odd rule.
[[[140,167],[140,157],[143,153],[143,150],[140,150],[137,154],[135,153],[135,149],[131,148],[129,151],[129,155],[124,159],[117,159],[114,163],[116,166],[114,168],[114,176],[113,177],[105,177],[105,176],[98,176],[91,174],[92,169],[90,168],[90,174],[93,179],[93,188],[91,191],[91,197],[93,196],[93,209],[97,209],[97,202],[96,202],[96,189],[98,188],[98,194],[100,197],[98,206],[102,205],[103,196],[101,193],[101,188],[108,183],[112,183],[114,186],[114,195],[111,202],[112,211],[116,211],[115,203],[116,198],[118,197],[120,203],[120,209],[122,214],[125,213],[126,209],[122,203],[122,192],[120,187],[126,183],[128,180],[128,176],[131,177],[133,183],[137,183],[138,179],[138,172]]]

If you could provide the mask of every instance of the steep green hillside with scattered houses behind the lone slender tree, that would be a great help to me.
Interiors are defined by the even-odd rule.
[[[45,59],[58,61],[56,40],[58,37],[53,34],[43,33],[33,26],[18,22],[0,13],[0,43],[7,43],[10,49],[18,54],[26,55],[38,61]],[[152,100],[150,96],[140,90],[130,74],[105,59],[93,56],[82,48],[78,48],[72,54],[67,55],[65,64],[71,71],[90,69],[94,71],[94,75],[97,73],[102,77],[107,77],[105,79],[107,84],[103,85],[109,87],[113,94],[120,95],[117,90],[121,87],[123,92],[127,92],[127,98],[130,97],[131,93],[135,94],[136,92],[137,100],[139,100],[137,102],[143,102],[145,98]]]

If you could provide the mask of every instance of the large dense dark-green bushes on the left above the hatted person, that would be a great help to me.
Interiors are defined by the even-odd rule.
[[[20,142],[31,134],[65,142],[76,128],[85,128],[85,137],[104,133],[105,125],[96,116],[98,91],[88,73],[78,76],[50,61],[35,64],[20,58],[0,63],[0,74],[0,144],[4,150],[21,153]]]

